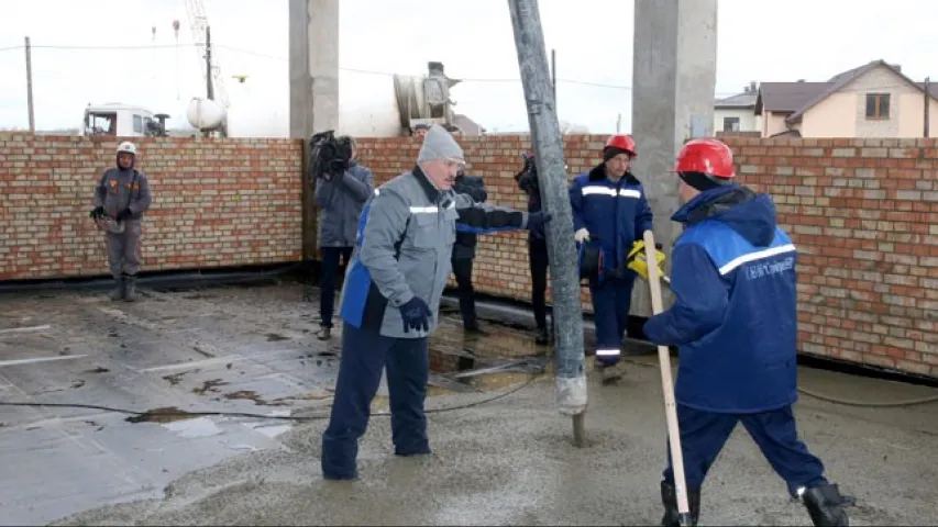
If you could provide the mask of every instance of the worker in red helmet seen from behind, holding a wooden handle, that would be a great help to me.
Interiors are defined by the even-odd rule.
[[[777,226],[775,204],[733,180],[732,152],[694,139],[674,169],[684,225],[672,251],[674,305],[644,324],[653,343],[678,346],[677,423],[692,522],[707,471],[742,423],[816,526],[846,526],[843,497],[798,439],[796,250]],[[669,451],[670,453],[670,451]],[[670,456],[669,456],[670,459]],[[671,463],[662,525],[678,525]]]

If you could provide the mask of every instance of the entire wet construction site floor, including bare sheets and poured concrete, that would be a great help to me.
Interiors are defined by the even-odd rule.
[[[317,304],[302,296],[301,285],[279,283],[145,290],[134,304],[95,291],[0,298],[0,401],[32,404],[0,406],[0,523],[659,522],[665,421],[653,355],[630,358],[616,385],[591,373],[585,448],[573,446],[571,419],[558,414],[550,374],[530,373],[547,359],[533,358],[487,374],[434,373],[427,406],[459,410],[430,414],[432,456],[393,456],[389,422],[375,416],[361,479],[323,481],[325,421],[317,417],[328,414],[339,337],[314,338]],[[457,315],[441,322],[434,354],[456,357],[460,369],[545,352],[514,325],[488,321],[488,336],[466,339]],[[801,383],[870,402],[935,393],[809,369]],[[386,411],[385,394],[374,412]],[[184,414],[206,411],[257,415]],[[830,479],[857,498],[852,525],[934,524],[938,404],[868,408],[803,397],[796,412]],[[700,525],[808,523],[739,427],[704,487]]]

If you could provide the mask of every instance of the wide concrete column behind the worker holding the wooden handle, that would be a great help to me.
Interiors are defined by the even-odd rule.
[[[655,240],[671,256],[681,226],[677,150],[691,137],[714,133],[717,66],[717,0],[636,0],[632,66],[633,171],[654,212]],[[665,272],[670,276],[671,266]],[[664,288],[664,304],[671,293]],[[648,284],[636,282],[632,315],[649,316]]]

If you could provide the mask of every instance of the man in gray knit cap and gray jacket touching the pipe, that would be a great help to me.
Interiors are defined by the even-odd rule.
[[[549,214],[476,203],[452,188],[463,150],[439,125],[423,138],[417,166],[374,192],[358,221],[358,238],[342,290],[342,355],[322,473],[357,478],[358,439],[387,366],[391,435],[397,456],[430,453],[427,337],[438,322],[456,228],[486,233],[542,232]],[[459,221],[459,227],[457,222]]]

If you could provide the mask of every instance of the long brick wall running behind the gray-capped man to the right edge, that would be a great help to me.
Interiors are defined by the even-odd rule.
[[[493,203],[525,206],[512,177],[529,141],[460,138]],[[604,141],[569,137],[571,172],[596,162]],[[938,141],[725,141],[740,182],[772,193],[798,246],[802,351],[938,377]],[[385,181],[412,166],[418,143],[363,139],[360,148]],[[475,281],[482,292],[527,301],[523,235],[481,237]]]

